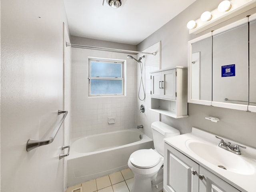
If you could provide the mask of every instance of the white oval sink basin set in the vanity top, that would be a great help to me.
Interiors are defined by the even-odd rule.
[[[220,169],[244,175],[254,174],[255,172],[254,166],[243,155],[224,150],[218,144],[206,140],[191,139],[186,141],[186,147],[198,158],[213,166],[218,166]]]

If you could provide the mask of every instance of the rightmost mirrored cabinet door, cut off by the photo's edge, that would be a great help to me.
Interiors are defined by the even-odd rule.
[[[256,112],[256,20],[250,22],[250,72],[249,72],[249,105],[255,106]],[[253,109],[251,109],[253,110]]]

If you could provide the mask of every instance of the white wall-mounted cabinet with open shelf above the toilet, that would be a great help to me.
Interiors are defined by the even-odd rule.
[[[173,118],[188,116],[187,76],[187,67],[151,72],[150,110]]]

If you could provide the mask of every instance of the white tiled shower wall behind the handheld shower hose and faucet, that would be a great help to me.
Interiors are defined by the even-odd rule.
[[[147,136],[153,139],[152,136],[152,130],[151,130],[151,124],[152,122],[159,121],[159,114],[157,112],[154,112],[152,110],[149,110],[151,108],[151,80],[150,80],[150,72],[156,71],[160,69],[160,56],[161,56],[161,44],[160,42],[150,46],[146,50],[143,50],[143,52],[156,52],[156,55],[151,54],[145,54],[145,58],[142,59],[143,63],[143,82],[144,82],[144,88],[146,90],[146,98],[144,101],[139,100],[138,98],[138,90],[140,87],[140,65],[137,65],[137,89],[136,89],[136,125],[143,125],[144,128],[141,130],[144,132]],[[136,58],[138,59],[144,54],[137,54]],[[142,98],[142,90],[140,91],[140,97]],[[139,111],[140,105],[143,104],[145,106],[145,112],[141,113]]]

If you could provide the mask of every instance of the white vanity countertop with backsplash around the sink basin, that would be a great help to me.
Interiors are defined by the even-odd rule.
[[[218,135],[217,135],[218,136]],[[220,138],[223,138],[221,136],[218,136]],[[223,138],[226,143],[231,142],[231,146],[234,144],[239,144],[241,146],[244,146],[243,144],[240,144],[238,142],[234,142],[232,140],[228,140],[226,138]],[[224,181],[228,182],[238,190],[242,192],[256,192],[256,149],[246,146],[246,149],[241,150],[241,155],[234,154],[232,152],[229,152],[225,149],[222,149],[220,147],[221,154],[230,153],[228,154],[230,158],[230,161],[232,162],[232,157],[241,156],[245,162],[248,162],[248,166],[252,166],[252,171],[250,171],[249,174],[239,174],[236,173],[236,171],[229,171],[224,170],[222,168],[219,168],[218,166],[206,161],[204,158],[198,156],[196,153],[194,153],[192,150],[190,150],[187,147],[187,143],[190,141],[200,141],[204,142],[210,145],[218,146],[220,140],[215,138],[214,134],[211,134],[209,132],[200,130],[198,128],[192,128],[192,132],[188,134],[182,134],[179,136],[174,136],[170,138],[164,139],[164,142],[175,148],[176,150],[180,151],[182,154],[186,155],[188,158],[194,160],[204,168],[208,169],[210,172],[215,174],[216,176],[222,178]],[[234,155],[234,156],[233,156]],[[239,165],[237,165],[239,166]],[[234,170],[236,167],[234,166]]]

